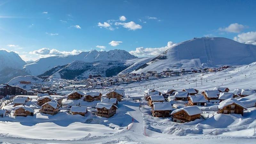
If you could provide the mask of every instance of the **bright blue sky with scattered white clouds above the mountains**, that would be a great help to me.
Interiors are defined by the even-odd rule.
[[[255,6],[245,0],[0,0],[0,49],[36,60],[92,49],[152,56],[203,36],[252,43]]]

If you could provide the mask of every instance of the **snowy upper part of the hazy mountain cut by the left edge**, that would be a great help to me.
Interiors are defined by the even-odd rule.
[[[4,68],[22,69],[25,64],[17,53],[0,50],[0,71]]]

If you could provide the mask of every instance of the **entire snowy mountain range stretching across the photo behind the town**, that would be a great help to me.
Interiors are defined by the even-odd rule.
[[[53,56],[26,63],[15,52],[0,50],[0,83],[15,76],[53,76],[83,79],[89,74],[114,76],[129,72],[158,72],[166,68],[217,67],[245,65],[256,61],[256,45],[241,44],[223,37],[194,38],[181,42],[162,54],[137,58],[124,50],[81,52],[77,55]]]

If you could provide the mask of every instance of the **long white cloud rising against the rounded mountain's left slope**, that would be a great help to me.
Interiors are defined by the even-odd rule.
[[[135,51],[130,51],[132,55],[138,56],[138,57],[147,57],[147,56],[157,56],[164,51],[168,50],[172,46],[175,46],[176,44],[173,42],[168,42],[166,46],[160,47],[160,48],[144,48],[144,47],[138,47]]]

